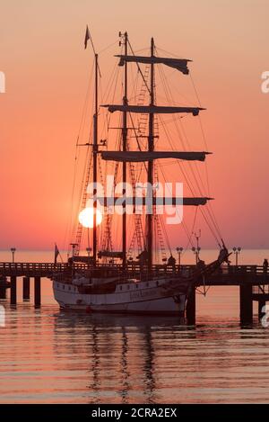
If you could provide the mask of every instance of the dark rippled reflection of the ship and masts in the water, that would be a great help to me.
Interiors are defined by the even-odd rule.
[[[87,368],[88,402],[143,402],[156,403],[159,398],[159,374],[156,373],[155,348],[161,337],[156,337],[158,331],[170,332],[178,319],[159,319],[126,316],[80,316],[77,314],[59,314],[56,318],[55,344],[61,343],[61,328],[67,328],[68,341],[64,342],[64,354],[77,355],[82,345],[77,345],[77,329],[84,333],[83,350]],[[85,319],[87,324],[85,325]],[[165,322],[165,324],[164,324]],[[158,328],[157,328],[158,327]],[[177,330],[186,331],[186,327],[175,325]],[[163,337],[165,341],[165,337]],[[160,345],[159,345],[160,347]],[[169,360],[164,344],[163,352],[158,358]],[[169,347],[170,348],[170,347]],[[169,349],[168,348],[168,349]],[[173,365],[167,368],[174,372]]]

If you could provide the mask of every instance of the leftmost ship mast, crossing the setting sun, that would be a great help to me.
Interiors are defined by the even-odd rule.
[[[93,116],[93,163],[92,163],[92,182],[93,182],[93,197],[97,194],[97,154],[98,154],[98,54],[95,55],[95,113]],[[96,265],[97,256],[97,224],[96,224],[96,210],[97,202],[93,202],[93,230],[92,230],[92,261],[93,265]]]

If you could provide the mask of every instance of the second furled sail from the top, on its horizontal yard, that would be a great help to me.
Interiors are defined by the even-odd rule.
[[[175,112],[191,112],[197,116],[202,107],[173,107],[161,105],[123,105],[123,104],[104,104],[101,107],[108,107],[108,112],[142,112],[142,113],[175,113]]]

